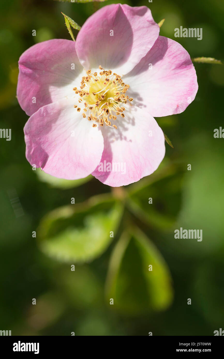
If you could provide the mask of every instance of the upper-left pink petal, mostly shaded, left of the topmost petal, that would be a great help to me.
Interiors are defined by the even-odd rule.
[[[82,71],[74,41],[54,39],[28,48],[19,59],[20,106],[31,116],[44,105],[73,96],[72,89],[80,85]]]

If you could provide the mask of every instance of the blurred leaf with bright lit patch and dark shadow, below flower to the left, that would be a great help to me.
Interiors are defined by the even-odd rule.
[[[108,195],[58,208],[40,223],[41,250],[61,261],[91,261],[113,240],[110,232],[116,233],[122,213],[122,203]]]

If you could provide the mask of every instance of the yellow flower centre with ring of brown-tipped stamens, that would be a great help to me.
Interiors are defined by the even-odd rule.
[[[82,116],[93,121],[92,127],[105,124],[117,129],[116,125],[111,126],[111,120],[116,120],[117,116],[124,118],[123,104],[133,101],[133,98],[125,96],[129,85],[122,81],[121,76],[112,74],[111,70],[105,71],[101,66],[99,69],[101,70],[99,75],[97,72],[91,73],[91,70],[86,71],[87,76],[82,77],[80,90],[77,87],[73,88],[80,96],[78,102],[83,104],[74,107],[78,112],[83,107]]]

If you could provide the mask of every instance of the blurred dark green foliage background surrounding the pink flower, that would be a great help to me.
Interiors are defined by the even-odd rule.
[[[148,6],[156,22],[165,18],[160,34],[191,57],[223,60],[220,0],[124,3]],[[96,6],[1,0],[0,128],[12,129],[12,140],[0,139],[0,329],[12,335],[214,335],[224,329],[224,139],[213,136],[224,122],[224,66],[195,64],[195,101],[180,115],[156,119],[174,149],[166,145],[158,171],[125,192],[111,194],[95,178],[55,182],[32,171],[25,158],[28,117],[15,97],[19,56],[37,42],[70,39],[60,11],[82,25]],[[174,38],[180,25],[203,28],[202,40]],[[180,227],[202,229],[202,242],[174,239]]]

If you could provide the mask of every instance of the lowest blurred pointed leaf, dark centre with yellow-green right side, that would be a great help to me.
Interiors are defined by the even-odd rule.
[[[152,270],[149,270],[149,266]],[[123,233],[111,256],[106,300],[130,314],[166,309],[173,298],[168,267],[154,244],[138,228]]]

